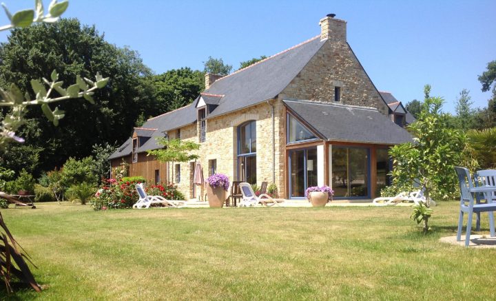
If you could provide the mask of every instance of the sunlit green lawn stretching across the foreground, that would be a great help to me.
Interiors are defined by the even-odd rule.
[[[435,207],[426,236],[409,207],[6,209],[45,288],[10,298],[493,299],[496,249],[438,242],[455,235],[457,206]]]

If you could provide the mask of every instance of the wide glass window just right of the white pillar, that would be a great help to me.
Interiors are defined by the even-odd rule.
[[[333,147],[332,185],[337,198],[369,197],[369,149]]]

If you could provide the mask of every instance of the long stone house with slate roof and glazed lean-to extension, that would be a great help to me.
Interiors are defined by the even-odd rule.
[[[192,104],[135,128],[110,156],[112,168],[125,160],[131,176],[172,181],[187,198],[203,194],[193,184],[196,163],[205,178],[275,183],[281,198],[303,198],[316,185],[333,187],[338,199],[378,195],[388,182],[388,147],[411,141],[394,122],[404,125],[406,110],[389,105],[369,79],[347,43],[346,21],[329,14],[320,29],[227,76],[206,74]],[[200,158],[172,165],[146,156],[163,136],[199,143]]]

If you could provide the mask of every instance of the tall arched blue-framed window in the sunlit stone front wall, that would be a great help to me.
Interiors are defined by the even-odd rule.
[[[238,127],[238,178],[256,184],[256,122]]]

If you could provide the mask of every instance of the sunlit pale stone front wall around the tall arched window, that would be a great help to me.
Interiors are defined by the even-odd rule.
[[[276,154],[276,185],[282,194],[284,187],[284,147],[285,127],[284,108],[281,101],[271,101],[275,107],[275,154]],[[229,180],[238,180],[238,125],[246,121],[256,121],[256,160],[257,160],[257,185],[262,181],[273,183],[272,169],[272,119],[271,106],[262,103],[244,110],[207,119],[207,132],[205,142],[200,143],[200,150],[196,152],[200,158],[197,160],[203,167],[205,180],[209,176],[209,160],[216,160],[217,173],[226,174]],[[180,129],[180,138],[186,141],[198,142],[198,129],[195,125],[189,125]],[[193,198],[192,177],[194,165],[180,163],[181,180],[178,189],[187,198]],[[201,189],[200,189],[201,188]],[[196,186],[196,198],[205,196],[203,187]]]

